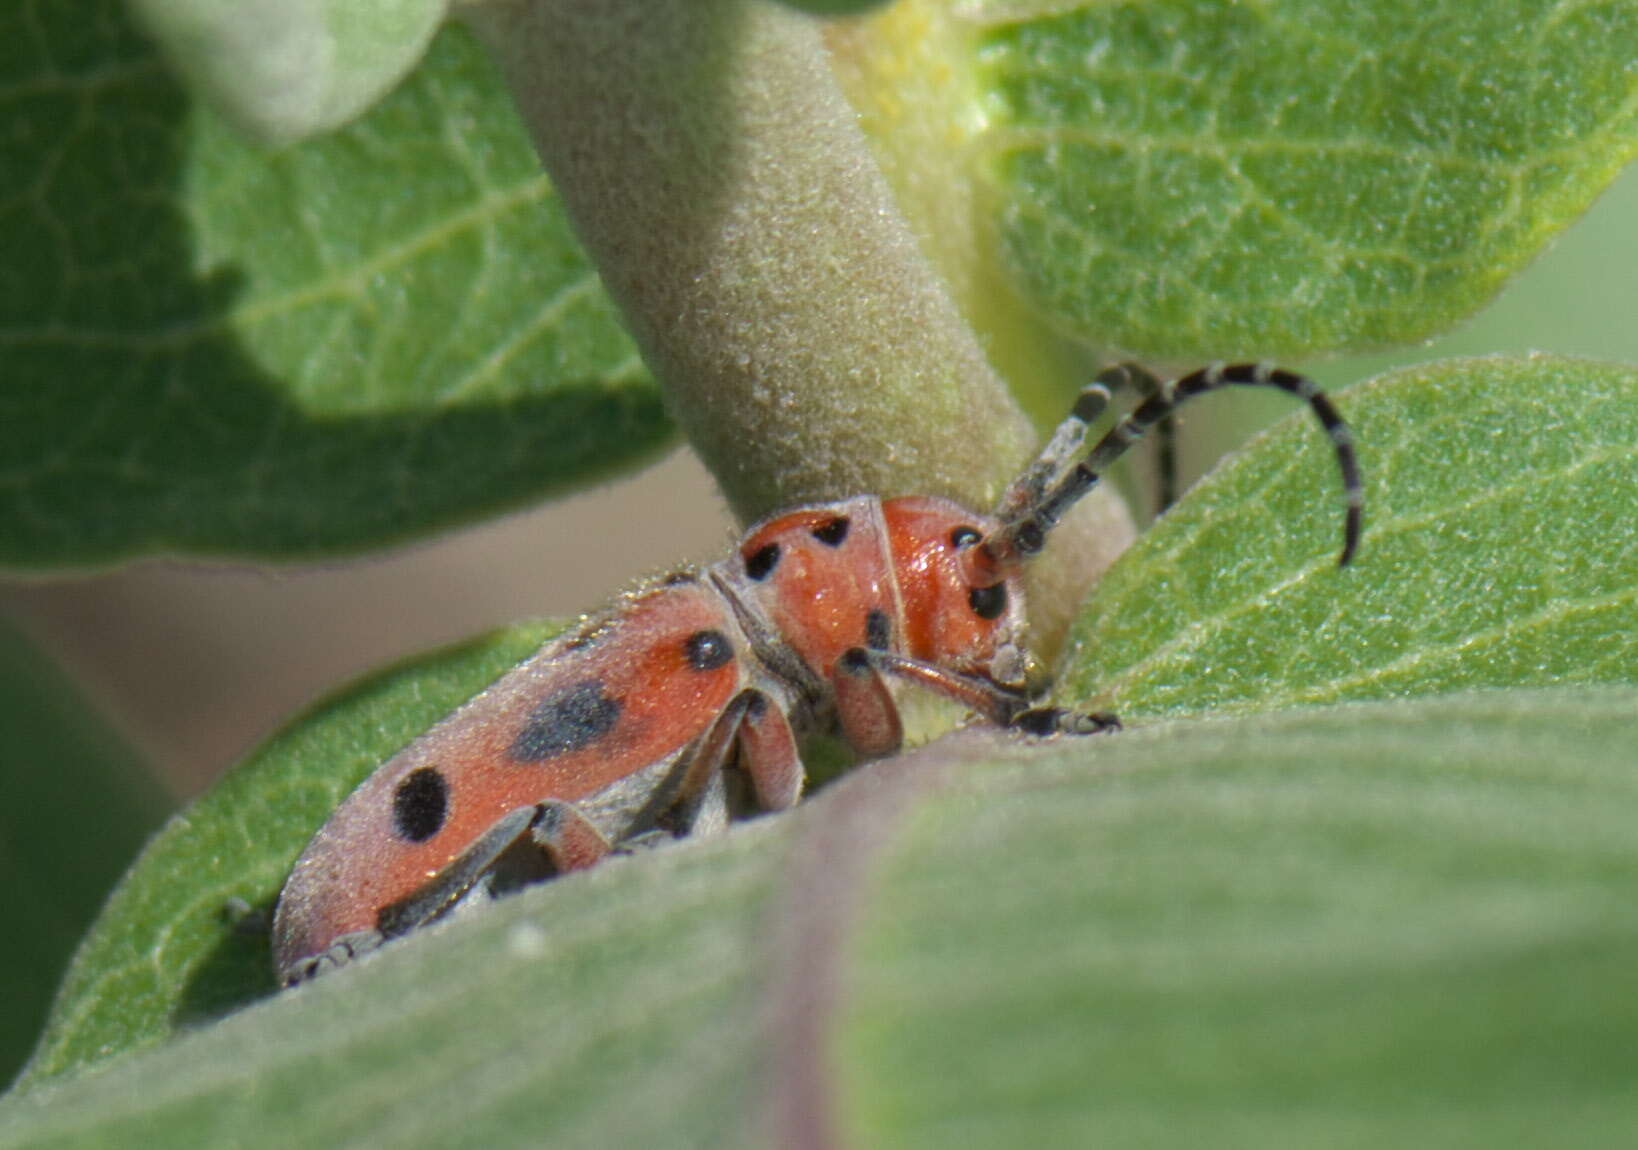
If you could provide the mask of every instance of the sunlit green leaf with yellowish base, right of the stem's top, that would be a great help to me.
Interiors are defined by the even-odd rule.
[[[1638,156],[1633,0],[906,0],[868,31],[848,93],[1020,385],[1061,333],[1171,362],[1423,339]]]

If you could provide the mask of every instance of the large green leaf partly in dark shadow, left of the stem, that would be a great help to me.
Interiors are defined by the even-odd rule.
[[[0,562],[357,550],[668,437],[467,34],[367,120],[265,152],[110,0],[11,13]]]

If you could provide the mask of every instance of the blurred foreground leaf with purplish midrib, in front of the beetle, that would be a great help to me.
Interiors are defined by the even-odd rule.
[[[1635,708],[943,740],[13,1096],[0,1147],[1625,1145]]]

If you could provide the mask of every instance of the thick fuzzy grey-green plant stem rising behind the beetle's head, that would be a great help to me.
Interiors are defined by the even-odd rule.
[[[991,505],[1035,431],[917,249],[816,20],[765,0],[465,11],[742,521],[865,491]],[[1129,537],[1101,506],[1097,554],[1063,549],[1083,578]]]

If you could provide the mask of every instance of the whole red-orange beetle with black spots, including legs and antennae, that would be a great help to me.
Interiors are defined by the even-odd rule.
[[[1145,398],[1083,454],[1112,385]],[[731,557],[681,570],[544,644],[414,739],[331,816],[274,919],[285,985],[429,922],[468,896],[590,867],[618,847],[716,827],[801,796],[798,740],[834,731],[894,752],[898,685],[1034,736],[1114,716],[1038,703],[1025,683],[1022,565],[1148,428],[1224,385],[1304,400],[1346,496],[1342,564],[1360,541],[1353,437],[1305,377],[1212,365],[1161,383],[1122,365],[1088,385],[993,514],[950,500],[860,495],[753,526]]]

